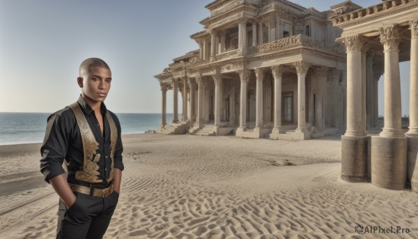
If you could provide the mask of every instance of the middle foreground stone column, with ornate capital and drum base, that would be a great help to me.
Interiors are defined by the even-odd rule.
[[[401,79],[397,26],[378,29],[385,49],[385,126],[380,137],[371,138],[371,183],[403,190],[407,178],[408,139],[401,128]]]

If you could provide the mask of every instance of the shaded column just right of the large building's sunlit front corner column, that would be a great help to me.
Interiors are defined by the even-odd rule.
[[[316,123],[315,126],[316,128],[318,128],[318,130],[325,130],[325,117],[326,117],[325,108],[327,104],[328,70],[330,70],[330,68],[327,68],[325,66],[320,66],[320,67],[315,68],[316,80],[318,82],[317,84],[318,97],[316,99],[318,103],[316,104],[317,109],[314,109],[314,110],[316,110],[317,112],[316,119],[315,119],[315,123]]]

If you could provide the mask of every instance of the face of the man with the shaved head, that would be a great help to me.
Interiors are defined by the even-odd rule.
[[[77,79],[82,88],[85,100],[92,103],[103,102],[109,93],[111,84],[111,71],[106,68],[91,66],[90,70],[84,70]]]

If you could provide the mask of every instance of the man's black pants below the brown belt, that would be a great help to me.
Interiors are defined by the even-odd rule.
[[[119,194],[106,198],[75,192],[77,198],[70,208],[59,201],[57,239],[102,238],[118,203]]]

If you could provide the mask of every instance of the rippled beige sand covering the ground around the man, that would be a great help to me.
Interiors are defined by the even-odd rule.
[[[418,238],[418,194],[341,180],[337,136],[127,134],[123,144],[104,238]],[[55,236],[58,196],[38,170],[39,148],[0,146],[1,238]],[[405,230],[359,234],[357,224]]]

